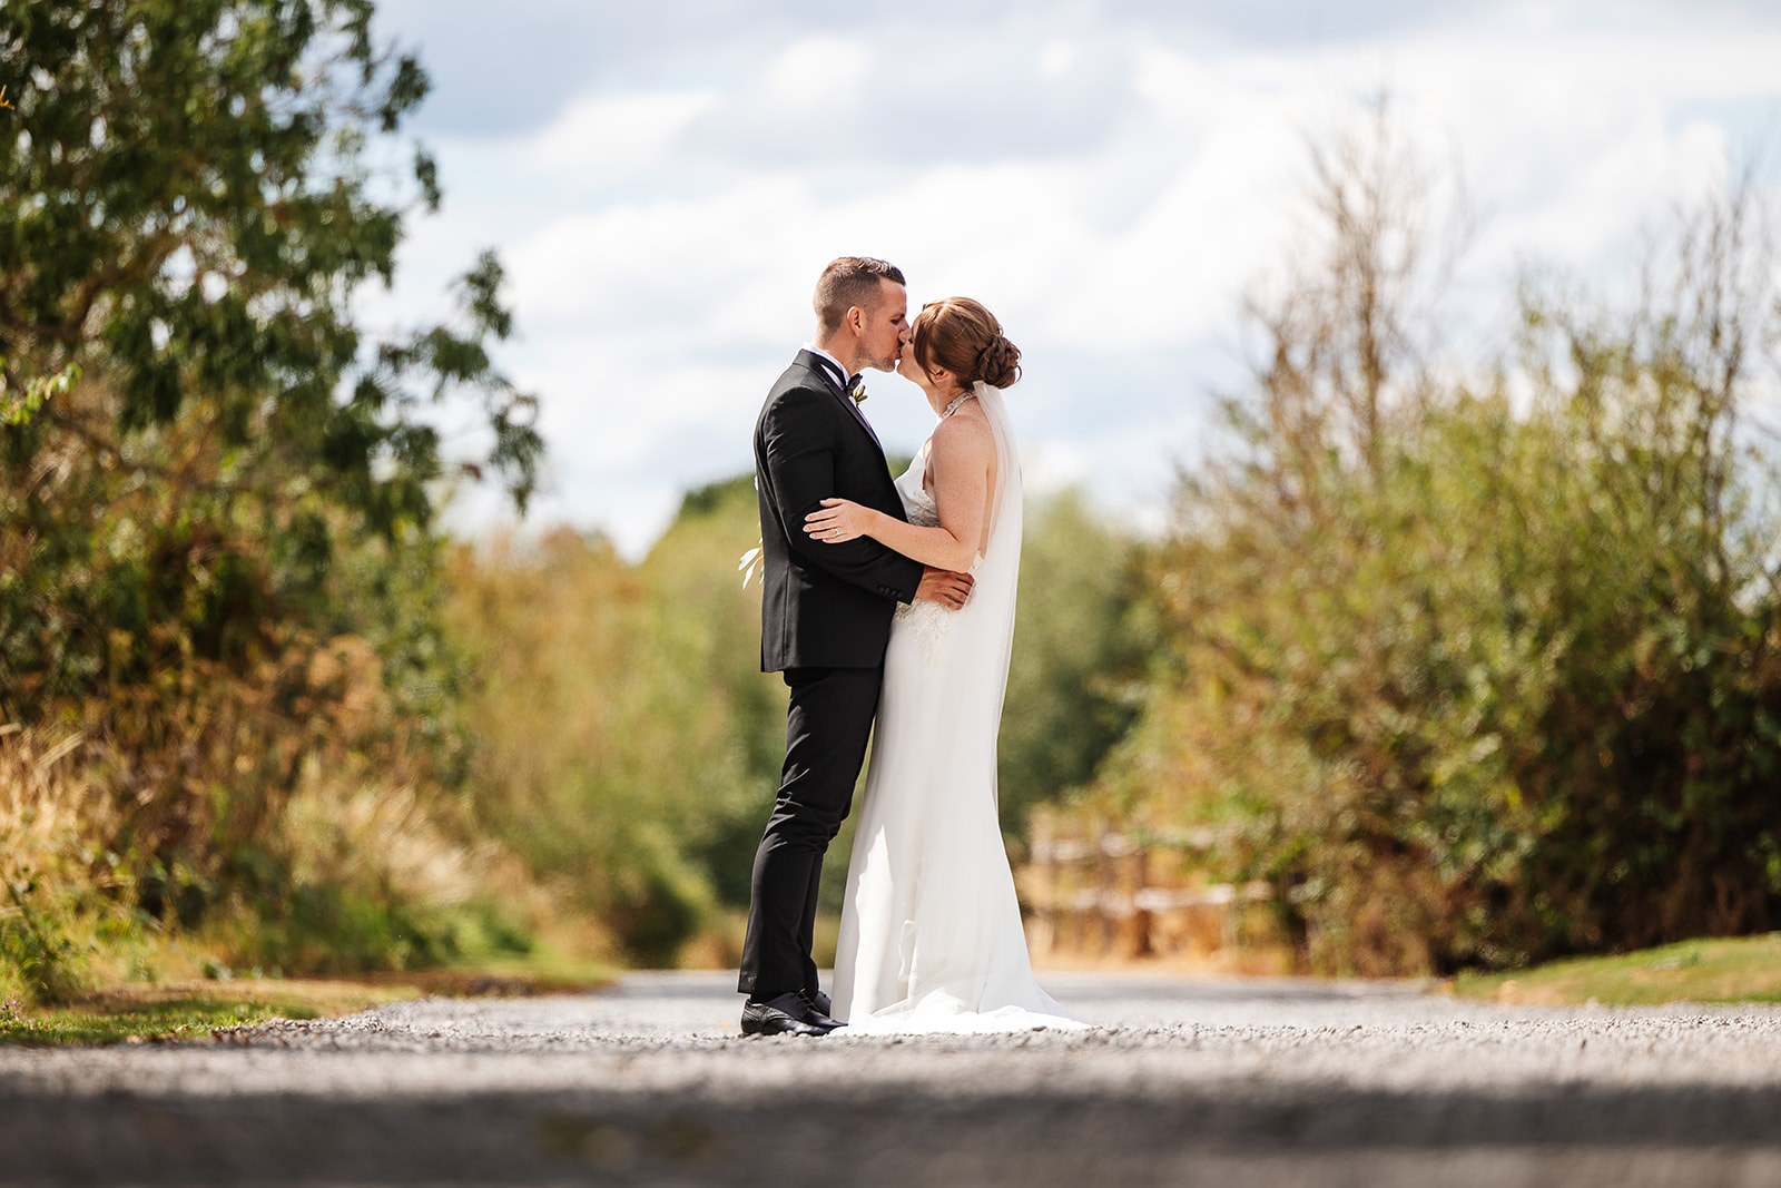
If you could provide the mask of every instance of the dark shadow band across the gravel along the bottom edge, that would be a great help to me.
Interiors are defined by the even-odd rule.
[[[0,1099],[39,1183],[1776,1183],[1781,1090]],[[1468,1170],[1469,1168],[1469,1170]]]

